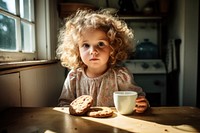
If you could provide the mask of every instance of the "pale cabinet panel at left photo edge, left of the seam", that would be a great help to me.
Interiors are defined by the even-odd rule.
[[[0,75],[0,110],[21,106],[19,73]]]

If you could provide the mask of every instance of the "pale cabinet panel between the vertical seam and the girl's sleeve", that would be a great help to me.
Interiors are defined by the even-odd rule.
[[[56,106],[64,75],[64,68],[58,64],[21,71],[22,106]]]

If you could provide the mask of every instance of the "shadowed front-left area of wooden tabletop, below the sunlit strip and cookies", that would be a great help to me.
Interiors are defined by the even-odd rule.
[[[113,118],[116,116],[113,116]],[[106,119],[106,118],[103,118]],[[14,108],[0,114],[0,133],[131,133],[51,108]]]

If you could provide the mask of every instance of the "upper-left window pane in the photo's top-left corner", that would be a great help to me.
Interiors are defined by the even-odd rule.
[[[16,14],[15,0],[0,0],[0,8],[10,13]]]

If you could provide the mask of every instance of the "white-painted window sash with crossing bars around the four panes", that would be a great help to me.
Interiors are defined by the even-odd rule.
[[[36,37],[35,37],[35,13],[34,8],[35,4],[34,1],[31,0],[31,20],[26,20],[21,18],[20,16],[20,9],[19,3],[20,0],[15,0],[16,2],[16,14],[8,12],[6,10],[0,9],[0,13],[4,16],[11,17],[16,20],[15,28],[16,28],[16,50],[4,50],[0,49],[0,62],[10,62],[10,61],[25,61],[25,60],[36,60],[37,59],[37,48],[36,48]],[[22,50],[22,31],[21,31],[21,23],[25,22],[31,25],[32,29],[32,46],[33,52],[25,52]]]

